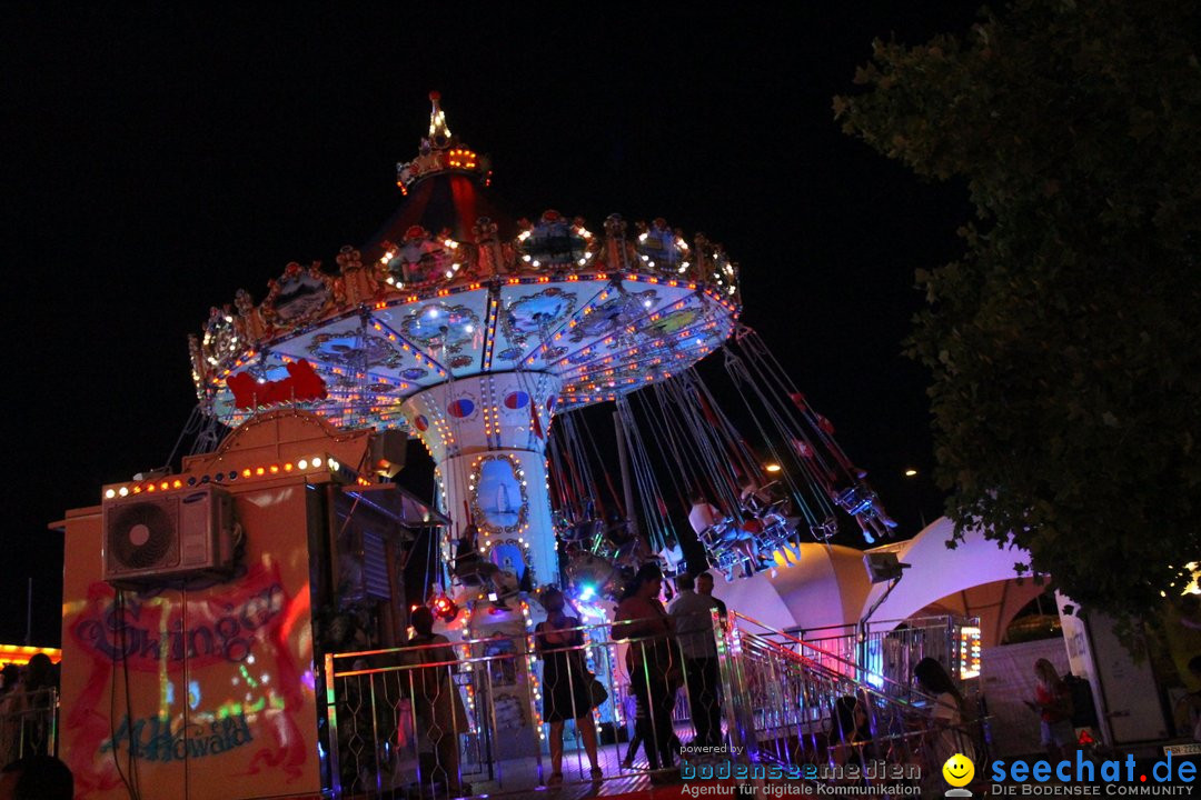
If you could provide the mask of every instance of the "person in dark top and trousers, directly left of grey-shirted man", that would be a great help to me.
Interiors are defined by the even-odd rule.
[[[675,764],[671,709],[683,675],[671,618],[659,602],[662,589],[663,573],[653,564],[644,565],[617,604],[613,625],[614,639],[633,639],[626,650],[626,668],[637,700],[634,728],[645,742],[652,770]]]

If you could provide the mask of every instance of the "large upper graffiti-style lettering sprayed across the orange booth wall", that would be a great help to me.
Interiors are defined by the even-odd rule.
[[[143,619],[142,607],[118,610],[108,606],[98,615],[86,615],[76,624],[76,638],[106,658],[129,658],[132,663],[225,660],[241,662],[250,655],[256,632],[269,625],[283,609],[280,584],[256,591],[238,604],[226,604],[221,615],[184,627],[181,615],[173,615],[167,630],[159,626],[157,614]],[[198,614],[190,614],[195,619]]]

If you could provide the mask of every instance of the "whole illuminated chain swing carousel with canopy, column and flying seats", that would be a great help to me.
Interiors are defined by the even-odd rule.
[[[691,536],[674,516],[728,579],[787,569],[802,537],[835,535],[839,511],[868,542],[895,527],[829,420],[740,324],[739,266],[721,245],[662,218],[513,221],[488,194],[489,160],[431,101],[380,233],[343,247],[335,271],[288,264],[257,303],[239,290],[192,337],[208,416],[234,427],[294,405],[418,438],[453,521],[437,547],[448,616],[464,601],[516,614],[507,603],[546,584],[613,596],[656,554],[683,569]],[[719,349],[755,447],[693,368]],[[616,404],[616,437],[603,435],[620,474],[574,413],[599,403]]]

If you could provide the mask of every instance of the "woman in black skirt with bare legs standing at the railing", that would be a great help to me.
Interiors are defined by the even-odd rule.
[[[575,720],[575,729],[584,740],[584,752],[592,765],[593,780],[603,776],[597,764],[597,732],[592,724],[592,675],[584,667],[584,631],[580,620],[568,616],[566,601],[558,589],[548,589],[542,596],[546,621],[534,627],[534,650],[542,658],[542,718],[550,723],[549,786],[563,782],[563,723]]]

